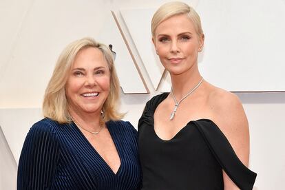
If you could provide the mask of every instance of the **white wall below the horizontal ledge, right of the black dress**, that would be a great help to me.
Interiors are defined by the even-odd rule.
[[[285,93],[238,93],[249,120],[254,190],[285,189]]]

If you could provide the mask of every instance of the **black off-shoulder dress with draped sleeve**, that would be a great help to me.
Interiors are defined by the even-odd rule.
[[[154,111],[167,96],[154,96],[138,123],[142,189],[224,189],[222,170],[240,189],[253,189],[257,174],[242,164],[212,120],[191,120],[171,140],[156,135]]]

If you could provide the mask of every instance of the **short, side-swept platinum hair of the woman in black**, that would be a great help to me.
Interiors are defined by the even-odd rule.
[[[193,25],[196,29],[198,36],[204,36],[202,30],[202,24],[200,17],[196,10],[194,10],[191,6],[188,6],[186,3],[182,3],[180,1],[173,1],[170,3],[165,3],[156,12],[154,13],[154,17],[151,20],[151,34],[154,37],[156,35],[156,28],[162,21],[169,19],[170,17],[176,16],[178,14],[187,14],[189,19],[193,22]]]

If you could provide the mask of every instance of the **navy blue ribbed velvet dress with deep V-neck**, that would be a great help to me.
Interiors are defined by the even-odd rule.
[[[74,123],[59,124],[44,118],[25,138],[17,189],[138,189],[137,131],[124,121],[106,125],[120,157],[117,173]]]

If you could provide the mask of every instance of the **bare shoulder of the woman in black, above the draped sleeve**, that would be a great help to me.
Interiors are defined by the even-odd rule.
[[[211,85],[209,105],[213,121],[231,143],[244,165],[249,161],[249,124],[237,95]]]

